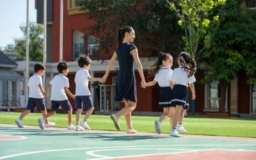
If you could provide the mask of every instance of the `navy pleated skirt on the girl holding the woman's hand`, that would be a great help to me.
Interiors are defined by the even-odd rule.
[[[161,87],[159,93],[159,107],[169,108],[171,107],[171,87]]]

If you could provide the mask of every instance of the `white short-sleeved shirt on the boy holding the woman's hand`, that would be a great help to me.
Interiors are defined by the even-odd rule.
[[[90,95],[88,88],[90,74],[85,68],[80,68],[76,72],[74,82],[76,83],[76,95]]]

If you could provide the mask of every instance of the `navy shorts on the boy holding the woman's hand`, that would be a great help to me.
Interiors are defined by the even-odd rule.
[[[83,106],[82,106],[83,102]],[[74,99],[74,108],[76,109],[89,109],[92,108],[92,97],[90,95],[76,95],[76,98]]]

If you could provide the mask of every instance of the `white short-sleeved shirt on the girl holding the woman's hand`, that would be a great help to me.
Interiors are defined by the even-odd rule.
[[[168,67],[161,67],[157,74],[155,74],[154,80],[157,81],[160,87],[170,86],[169,81],[171,81],[171,75],[173,70]]]

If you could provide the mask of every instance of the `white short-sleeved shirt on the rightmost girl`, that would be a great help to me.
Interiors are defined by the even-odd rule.
[[[178,67],[173,70],[171,75],[171,81],[173,84],[181,84],[183,86],[189,86],[189,84],[196,82],[196,78],[193,76],[188,77],[188,71],[184,67]]]

